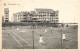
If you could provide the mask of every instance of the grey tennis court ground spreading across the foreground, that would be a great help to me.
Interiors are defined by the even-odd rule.
[[[3,49],[77,49],[78,48],[78,30],[74,26],[70,27],[49,27],[44,26],[13,26],[3,27],[2,30],[2,48]],[[18,30],[17,30],[18,28]],[[45,32],[45,29],[47,32]],[[61,42],[61,34],[66,33],[66,40]],[[39,37],[43,36],[45,45],[39,44]]]

